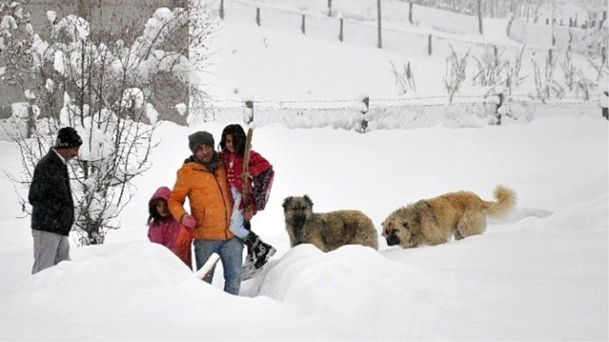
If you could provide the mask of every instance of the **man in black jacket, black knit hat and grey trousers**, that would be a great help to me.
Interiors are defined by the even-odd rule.
[[[66,162],[78,156],[80,145],[82,139],[74,128],[60,129],[54,147],[34,169],[28,197],[34,240],[32,274],[70,259],[68,234],[74,224],[74,201]]]

